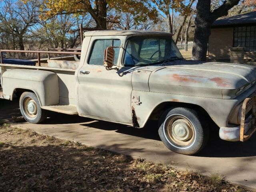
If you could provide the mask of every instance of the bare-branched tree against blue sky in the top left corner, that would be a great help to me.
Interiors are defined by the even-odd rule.
[[[0,8],[0,31],[12,36],[13,48],[17,39],[20,50],[24,50],[24,38],[33,36],[32,27],[38,22],[38,1],[3,0]]]

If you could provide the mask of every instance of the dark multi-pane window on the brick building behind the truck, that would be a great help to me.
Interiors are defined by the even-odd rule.
[[[246,52],[256,51],[256,26],[234,27],[233,47],[245,47]]]

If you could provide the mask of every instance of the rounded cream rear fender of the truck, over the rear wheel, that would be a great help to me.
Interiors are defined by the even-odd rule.
[[[14,91],[25,89],[33,91],[41,106],[59,103],[58,76],[54,72],[43,70],[13,69],[2,74],[3,93],[10,95]]]

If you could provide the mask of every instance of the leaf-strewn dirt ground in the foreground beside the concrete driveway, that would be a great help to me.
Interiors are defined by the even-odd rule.
[[[179,171],[123,155],[0,126],[0,191],[246,192],[224,177]]]

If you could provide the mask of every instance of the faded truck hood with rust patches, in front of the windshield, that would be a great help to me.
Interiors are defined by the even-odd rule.
[[[221,62],[180,61],[152,72],[150,91],[212,97],[256,80],[256,67]]]

